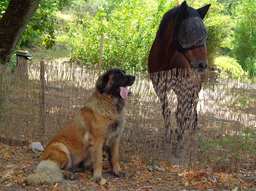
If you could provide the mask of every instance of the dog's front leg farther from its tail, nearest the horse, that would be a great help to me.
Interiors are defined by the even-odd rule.
[[[112,164],[112,170],[114,175],[116,175],[117,177],[127,177],[128,173],[121,170],[120,165],[118,163],[119,143],[120,138],[118,138],[117,141],[113,143],[112,148],[109,148],[110,162]]]

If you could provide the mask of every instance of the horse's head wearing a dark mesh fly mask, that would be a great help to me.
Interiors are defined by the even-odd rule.
[[[177,51],[186,58],[192,68],[204,72],[208,66],[206,49],[206,29],[203,19],[209,5],[194,9],[181,3],[173,30],[173,43]]]

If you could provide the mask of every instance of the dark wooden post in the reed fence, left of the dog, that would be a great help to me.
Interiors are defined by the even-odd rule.
[[[40,61],[40,86],[39,86],[39,104],[40,104],[40,127],[41,143],[45,145],[45,78],[44,78],[44,61]]]

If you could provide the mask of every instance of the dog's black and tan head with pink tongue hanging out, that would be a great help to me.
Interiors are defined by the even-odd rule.
[[[100,94],[111,94],[125,99],[128,94],[131,94],[127,86],[131,86],[134,80],[135,76],[126,74],[120,68],[112,68],[99,76],[96,82],[96,89]]]

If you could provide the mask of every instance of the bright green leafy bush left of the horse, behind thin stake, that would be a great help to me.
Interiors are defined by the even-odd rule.
[[[163,5],[162,10],[166,8]],[[87,14],[82,27],[72,38],[72,60],[98,65],[100,36],[104,34],[103,68],[121,67],[129,72],[146,72],[149,50],[164,13],[159,10],[143,1],[126,0],[113,10],[109,19],[103,7],[93,18]]]

